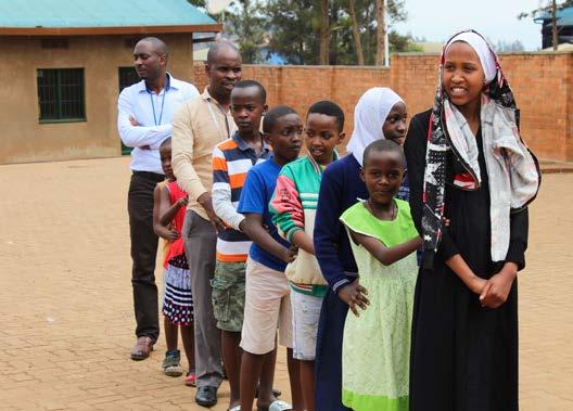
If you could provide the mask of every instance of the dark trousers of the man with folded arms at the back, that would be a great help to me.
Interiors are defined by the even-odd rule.
[[[157,341],[160,319],[157,312],[157,286],[155,285],[155,256],[157,235],[153,232],[153,190],[164,176],[154,172],[133,171],[127,196],[131,259],[133,268],[133,308],[136,335]]]

